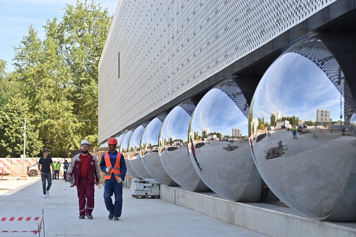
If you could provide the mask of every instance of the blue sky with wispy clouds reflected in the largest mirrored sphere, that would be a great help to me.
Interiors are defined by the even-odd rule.
[[[297,53],[286,53],[268,68],[257,86],[254,117],[269,122],[273,111],[281,117],[316,120],[316,110],[330,110],[332,121],[340,120],[340,93],[326,74],[312,61]],[[342,114],[344,114],[342,98]]]

